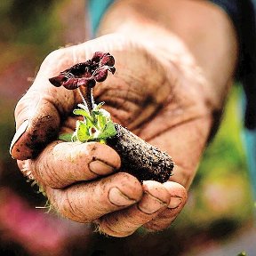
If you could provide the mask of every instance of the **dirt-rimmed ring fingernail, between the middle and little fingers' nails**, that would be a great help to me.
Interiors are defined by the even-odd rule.
[[[148,193],[144,193],[142,199],[140,200],[140,204],[138,204],[138,207],[141,212],[152,214],[157,212],[164,205],[166,206],[166,204],[160,199]]]

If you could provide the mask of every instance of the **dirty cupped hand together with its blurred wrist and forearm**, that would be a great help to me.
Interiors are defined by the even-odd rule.
[[[189,17],[189,24],[180,17]],[[216,121],[213,113],[221,112],[236,66],[236,33],[215,5],[187,0],[116,2],[100,27],[101,34],[125,36],[104,36],[44,60],[16,108],[19,129],[12,156],[33,158],[19,161],[20,169],[34,176],[69,219],[95,221],[112,236],[128,236],[142,225],[166,228],[186,202],[184,187],[195,175]],[[70,113],[80,101],[76,92],[53,88],[48,78],[96,51],[113,54],[117,68],[97,86],[96,100],[106,101],[116,122],[172,156],[178,166],[172,180],[178,183],[145,181],[141,186],[127,173],[114,174],[120,159],[106,145],[48,144],[57,133],[74,128]]]

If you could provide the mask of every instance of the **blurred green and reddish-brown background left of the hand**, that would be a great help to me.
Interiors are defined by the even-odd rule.
[[[42,196],[30,188],[9,154],[15,132],[13,112],[31,84],[28,76],[34,76],[44,57],[62,44],[58,15],[65,2],[7,0],[0,4],[0,187],[13,188],[37,203],[36,197],[41,200]]]

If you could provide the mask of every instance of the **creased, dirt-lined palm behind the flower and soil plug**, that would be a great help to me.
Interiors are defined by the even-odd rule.
[[[194,67],[166,67],[137,48],[128,51],[129,61],[116,53],[116,74],[96,85],[95,99],[106,102],[117,123],[167,151],[180,169],[174,180],[188,187],[184,176],[195,172],[212,124],[200,94],[204,81],[196,72],[190,76]]]

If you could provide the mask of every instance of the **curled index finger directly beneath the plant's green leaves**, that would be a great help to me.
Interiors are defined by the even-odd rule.
[[[26,168],[21,170],[28,169],[42,185],[65,188],[77,181],[115,172],[121,160],[116,151],[105,144],[59,140],[47,146],[35,160],[25,160],[24,165]]]

